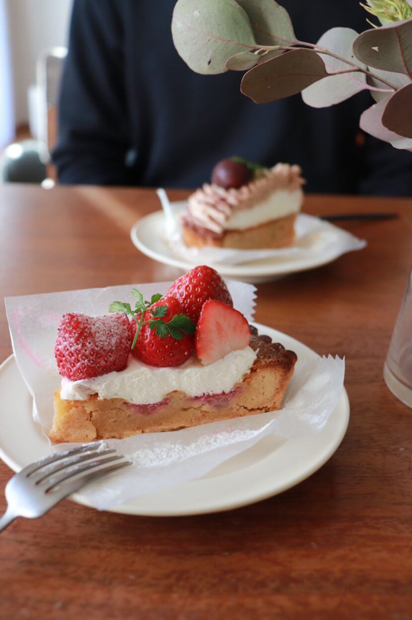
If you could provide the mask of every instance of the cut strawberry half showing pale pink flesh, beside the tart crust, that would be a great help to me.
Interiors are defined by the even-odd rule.
[[[251,329],[241,312],[221,301],[205,302],[195,332],[196,355],[204,366],[247,347],[250,340]]]

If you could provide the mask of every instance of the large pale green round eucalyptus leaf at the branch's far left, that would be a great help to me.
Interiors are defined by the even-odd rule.
[[[251,22],[234,0],[178,0],[172,36],[179,56],[196,73],[224,73],[226,61],[256,47]]]

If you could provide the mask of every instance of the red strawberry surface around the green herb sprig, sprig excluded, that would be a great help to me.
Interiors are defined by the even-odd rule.
[[[159,319],[153,316],[153,312],[156,313],[156,309],[162,306],[167,308],[165,314],[162,313],[161,316],[163,324],[168,324],[173,317],[183,314],[182,307],[177,299],[174,297],[164,297],[150,306],[145,312],[144,321],[158,321]],[[138,320],[140,316],[137,316]],[[186,319],[186,317],[183,318]],[[158,336],[156,335],[156,329],[150,329],[150,327],[150,323],[140,327],[135,347],[132,350],[132,354],[137,360],[144,362],[148,366],[180,366],[189,359],[193,350],[193,334],[185,335],[179,332],[178,328],[173,330],[172,327],[173,334],[179,337],[179,340],[177,340],[170,333],[163,337]],[[136,329],[137,323],[132,321],[133,338]],[[194,325],[192,325],[193,329]]]

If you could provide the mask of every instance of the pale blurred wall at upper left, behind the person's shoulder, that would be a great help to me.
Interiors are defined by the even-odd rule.
[[[72,0],[7,0],[17,125],[27,123],[27,91],[41,51],[67,44]]]

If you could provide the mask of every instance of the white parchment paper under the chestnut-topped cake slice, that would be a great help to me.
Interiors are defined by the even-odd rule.
[[[169,202],[164,190],[158,190],[161,206],[165,213],[163,238],[177,256],[191,264],[240,265],[262,259],[276,259],[290,262],[303,259],[317,259],[325,255],[338,258],[346,252],[361,250],[366,241],[350,232],[333,226],[327,221],[300,213],[296,218],[296,239],[293,246],[266,250],[235,250],[220,247],[187,247],[182,239],[180,216],[187,209],[187,202]]]

